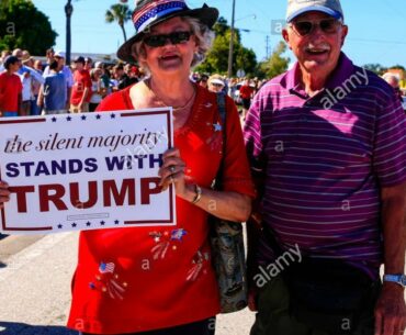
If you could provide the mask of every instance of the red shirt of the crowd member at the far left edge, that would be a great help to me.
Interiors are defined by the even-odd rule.
[[[18,75],[9,75],[7,71],[0,75],[0,111],[18,112],[19,111],[19,94],[23,90],[20,77]]]

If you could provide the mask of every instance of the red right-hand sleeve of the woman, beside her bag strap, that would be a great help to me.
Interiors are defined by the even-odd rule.
[[[223,187],[233,191],[256,197],[249,164],[244,150],[244,138],[239,114],[234,101],[226,98],[226,152],[223,167]]]

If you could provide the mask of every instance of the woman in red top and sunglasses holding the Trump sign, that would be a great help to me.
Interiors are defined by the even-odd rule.
[[[162,190],[174,186],[178,224],[82,232],[70,328],[83,334],[214,334],[219,302],[207,215],[245,221],[253,197],[233,101],[226,101],[223,130],[216,94],[189,79],[191,66],[211,44],[217,15],[214,8],[190,10],[179,0],[143,1],[133,14],[137,33],[119,56],[138,59],[150,76],[106,97],[98,110],[173,107],[176,147],[163,155],[159,175]],[[156,21],[145,23],[151,16]],[[219,192],[211,183],[222,158]]]

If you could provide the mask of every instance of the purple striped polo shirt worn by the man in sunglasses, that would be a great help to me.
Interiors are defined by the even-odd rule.
[[[341,54],[311,98],[296,64],[258,92],[245,141],[252,170],[266,178],[264,224],[280,245],[376,276],[380,188],[406,180],[406,120],[394,90]],[[273,260],[264,241],[258,260]]]

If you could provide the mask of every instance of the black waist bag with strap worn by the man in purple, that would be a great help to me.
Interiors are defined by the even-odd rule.
[[[271,230],[262,232],[279,257],[283,255]],[[290,293],[290,312],[300,322],[331,335],[351,334],[365,311],[373,311],[381,282],[340,259],[309,258],[282,272]]]

